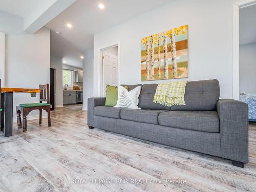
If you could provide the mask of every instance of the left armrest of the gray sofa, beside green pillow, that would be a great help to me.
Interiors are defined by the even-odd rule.
[[[105,97],[88,98],[87,124],[89,126],[94,126],[94,114],[93,114],[94,107],[104,105],[105,100],[106,100]]]

